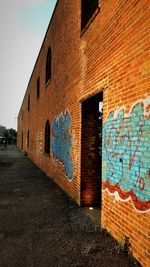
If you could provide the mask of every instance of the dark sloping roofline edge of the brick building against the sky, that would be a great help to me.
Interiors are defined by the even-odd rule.
[[[41,48],[40,48],[40,50],[39,50],[39,53],[38,53],[37,59],[36,59],[36,61],[35,61],[35,64],[34,64],[34,67],[33,67],[33,70],[32,70],[31,76],[30,76],[30,79],[29,79],[29,81],[28,81],[27,88],[26,88],[26,91],[25,91],[25,94],[24,94],[24,97],[23,97],[23,100],[22,100],[22,104],[21,104],[21,107],[20,107],[20,109],[19,109],[19,112],[18,112],[18,117],[19,117],[20,111],[21,111],[21,109],[22,109],[22,105],[23,105],[23,102],[24,102],[24,99],[25,99],[26,93],[27,93],[27,91],[28,91],[28,87],[29,87],[30,81],[31,81],[31,79],[32,79],[32,76],[33,76],[33,72],[34,72],[34,70],[35,70],[35,66],[36,66],[36,64],[37,64],[37,61],[38,61],[38,59],[39,59],[39,56],[40,56],[41,50],[42,50],[42,48],[43,48],[43,45],[44,45],[44,42],[45,42],[45,39],[46,39],[46,36],[47,36],[48,30],[49,30],[49,28],[50,28],[50,25],[51,25],[51,23],[52,23],[52,19],[53,19],[53,17],[54,17],[54,14],[55,14],[55,11],[56,11],[56,8],[57,8],[57,5],[58,5],[58,2],[59,2],[59,0],[57,0],[57,2],[56,2],[56,4],[55,4],[55,7],[54,7],[54,10],[53,10],[52,16],[51,16],[51,18],[50,18],[50,21],[49,21],[49,24],[48,24],[48,27],[47,27],[47,30],[46,30],[46,33],[45,33],[45,36],[44,36],[44,39],[43,39],[42,45],[41,45]]]

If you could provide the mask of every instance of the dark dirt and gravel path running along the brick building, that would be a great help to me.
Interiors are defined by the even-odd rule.
[[[0,151],[0,267],[140,266],[19,151]]]

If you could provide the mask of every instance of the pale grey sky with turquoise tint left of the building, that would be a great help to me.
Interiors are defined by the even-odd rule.
[[[0,7],[0,125],[17,116],[57,0],[3,0]]]

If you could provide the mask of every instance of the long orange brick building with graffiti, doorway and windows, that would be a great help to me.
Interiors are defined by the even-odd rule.
[[[18,147],[150,266],[150,1],[57,1]]]

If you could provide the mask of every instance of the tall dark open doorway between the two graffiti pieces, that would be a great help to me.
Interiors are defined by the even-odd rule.
[[[101,207],[103,92],[82,103],[81,206]]]

